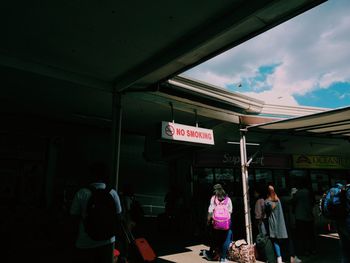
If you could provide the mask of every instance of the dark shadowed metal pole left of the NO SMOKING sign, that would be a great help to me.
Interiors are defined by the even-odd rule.
[[[122,127],[121,94],[113,92],[112,102],[112,173],[110,182],[118,190],[119,163],[120,163],[120,137]]]

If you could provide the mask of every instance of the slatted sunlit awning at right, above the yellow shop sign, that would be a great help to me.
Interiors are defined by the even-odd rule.
[[[251,125],[248,130],[350,138],[350,106],[282,121]]]

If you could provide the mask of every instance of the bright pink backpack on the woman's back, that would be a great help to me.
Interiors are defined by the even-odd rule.
[[[228,211],[226,197],[221,202],[217,197],[214,198],[215,208],[213,211],[213,227],[220,230],[228,230],[230,228],[231,216]]]

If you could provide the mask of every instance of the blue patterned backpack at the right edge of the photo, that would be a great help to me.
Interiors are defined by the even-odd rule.
[[[349,184],[337,183],[326,191],[319,203],[321,215],[331,220],[345,218],[349,212],[346,207],[346,193],[349,189]]]

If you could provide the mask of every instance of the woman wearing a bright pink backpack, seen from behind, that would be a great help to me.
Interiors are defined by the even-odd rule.
[[[227,196],[221,184],[214,185],[214,195],[210,199],[208,208],[208,225],[211,226],[210,250],[208,259],[220,258],[220,262],[226,261],[227,242],[232,232],[231,228],[232,201]]]

